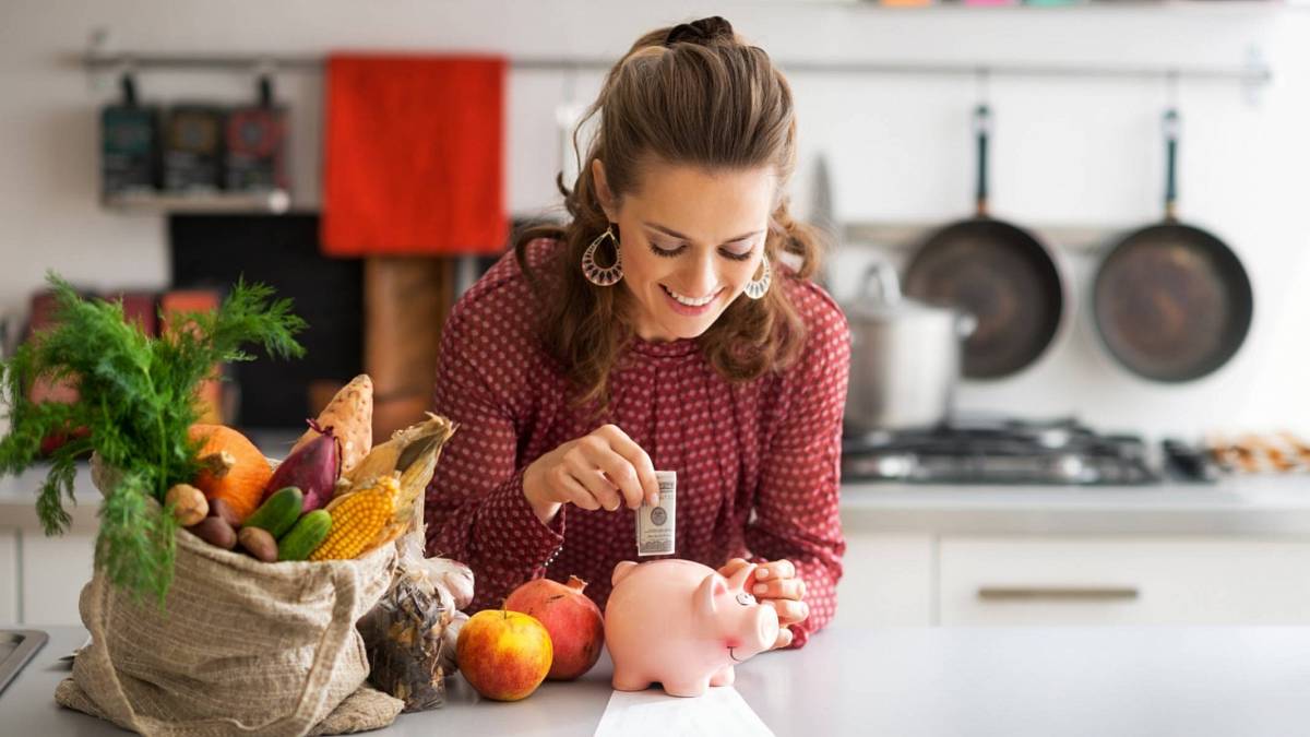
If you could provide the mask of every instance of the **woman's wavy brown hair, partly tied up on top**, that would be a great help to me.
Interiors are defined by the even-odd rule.
[[[528,228],[515,241],[519,266],[544,300],[542,342],[571,380],[575,400],[608,403],[609,372],[634,337],[624,291],[592,285],[580,268],[583,252],[610,226],[592,181],[596,159],[604,163],[616,201],[637,191],[642,163],[650,157],[705,170],[773,170],[778,195],[764,249],[774,265],[774,285],[762,299],[734,300],[697,342],[731,382],[793,362],[804,325],[778,283],[787,278],[779,257],[791,253],[795,275],[808,278],[817,269],[820,241],[791,219],[782,194],[795,168],[796,122],[791,88],[769,55],[719,17],[654,30],[609,71],[600,97],[574,130],[575,144],[596,114],[600,125],[576,182],[570,189],[562,174],[557,177],[571,220]],[[528,243],[538,237],[563,241],[559,258],[548,266],[557,277],[549,290],[528,264]]]

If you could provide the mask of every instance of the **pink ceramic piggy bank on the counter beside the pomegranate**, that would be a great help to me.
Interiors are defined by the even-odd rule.
[[[778,639],[778,612],[745,590],[753,570],[724,578],[690,560],[616,565],[605,605],[614,688],[659,682],[669,695],[700,696],[709,686],[731,686],[732,666]]]

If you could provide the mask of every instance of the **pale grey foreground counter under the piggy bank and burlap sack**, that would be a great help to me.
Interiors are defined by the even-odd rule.
[[[12,734],[123,734],[62,709],[59,657],[75,627],[0,694]],[[610,695],[608,657],[582,681],[510,704],[452,679],[444,708],[377,734],[591,734]],[[735,686],[778,737],[1302,734],[1310,724],[1310,627],[841,628],[766,653]]]

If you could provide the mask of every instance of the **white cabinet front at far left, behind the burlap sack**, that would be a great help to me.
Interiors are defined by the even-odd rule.
[[[90,581],[94,559],[94,535],[68,532],[47,538],[41,532],[25,532],[20,578],[22,622],[81,624],[77,597],[83,585]]]

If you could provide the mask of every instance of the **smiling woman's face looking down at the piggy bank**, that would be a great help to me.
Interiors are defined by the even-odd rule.
[[[637,334],[671,341],[707,330],[760,269],[772,170],[706,172],[650,161],[639,190],[617,210],[599,160],[592,174],[601,206],[618,224],[624,279],[613,289],[627,290]],[[600,260],[608,264],[608,253]]]

